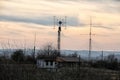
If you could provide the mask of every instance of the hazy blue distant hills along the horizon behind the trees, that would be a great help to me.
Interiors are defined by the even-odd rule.
[[[13,51],[12,51],[13,50]],[[7,51],[7,52],[10,52],[10,53],[6,53],[6,55],[11,55],[14,51],[18,50],[18,49],[12,49],[12,50],[4,50],[4,51]],[[22,49],[23,50],[23,49]],[[36,56],[37,56],[37,51],[36,50]],[[25,52],[25,55],[31,55],[33,52],[33,49],[30,49],[30,50],[27,50]],[[71,55],[71,54],[74,54],[74,53],[77,53],[78,56],[81,56],[82,59],[88,59],[89,58],[89,51],[88,50],[61,50],[61,54],[62,55]],[[3,50],[0,49],[0,56],[3,56],[4,53],[3,53]],[[91,58],[92,59],[100,59],[101,58],[101,55],[102,55],[102,51],[91,51]],[[120,51],[103,51],[103,56],[104,57],[107,57],[108,55],[115,55],[115,57],[117,57],[119,60],[120,60]]]

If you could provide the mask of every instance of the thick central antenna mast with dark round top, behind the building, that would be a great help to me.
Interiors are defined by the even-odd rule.
[[[61,27],[65,26],[66,27],[66,16],[64,18],[56,18],[54,16],[54,27],[58,25],[58,40],[57,40],[57,49],[58,49],[58,55],[60,56],[61,52]],[[57,22],[56,22],[57,21]]]

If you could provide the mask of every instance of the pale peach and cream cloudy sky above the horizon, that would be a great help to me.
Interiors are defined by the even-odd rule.
[[[33,48],[35,35],[37,48],[56,46],[53,16],[67,16],[61,49],[88,50],[91,17],[92,50],[119,51],[119,4],[120,0],[0,0],[0,48]]]

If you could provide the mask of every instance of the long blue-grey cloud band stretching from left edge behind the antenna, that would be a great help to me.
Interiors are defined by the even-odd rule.
[[[35,18],[25,18],[25,17],[18,17],[18,16],[7,16],[7,15],[0,15],[0,21],[11,21],[11,22],[23,22],[23,23],[34,23],[39,25],[46,25],[46,26],[53,26],[54,19],[53,16],[44,16],[44,17],[35,17]],[[77,17],[68,17],[67,18],[67,25],[68,26],[77,26],[78,19]]]

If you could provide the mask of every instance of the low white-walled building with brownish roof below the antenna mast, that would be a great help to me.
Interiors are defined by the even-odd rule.
[[[37,67],[46,69],[55,69],[60,67],[73,67],[80,63],[77,57],[52,57],[45,56],[37,60]]]

